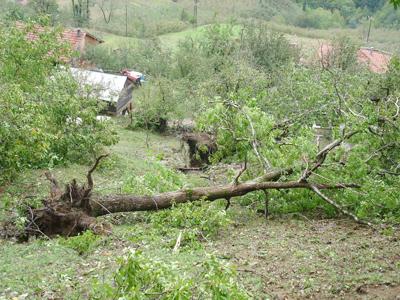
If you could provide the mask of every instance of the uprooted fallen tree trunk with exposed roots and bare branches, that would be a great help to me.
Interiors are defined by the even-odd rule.
[[[315,166],[311,169],[315,170],[319,168],[323,164],[327,153],[339,146],[340,143],[340,140],[336,140],[320,151],[315,160]],[[29,238],[30,235],[45,235],[48,237],[55,235],[73,236],[88,229],[100,234],[108,232],[110,227],[98,222],[96,217],[99,216],[119,212],[159,210],[169,208],[175,204],[198,200],[214,201],[217,199],[226,199],[228,208],[230,199],[233,197],[243,196],[254,191],[266,192],[271,189],[312,190],[321,196],[322,199],[334,205],[342,213],[352,217],[359,223],[365,223],[355,218],[354,215],[348,213],[346,210],[341,209],[339,205],[321,192],[321,190],[325,189],[357,188],[359,187],[358,185],[310,183],[308,182],[308,177],[311,173],[308,170],[304,171],[299,180],[281,180],[284,175],[292,174],[293,170],[291,168],[270,171],[262,177],[240,183],[239,178],[246,171],[246,163],[240,172],[238,172],[235,180],[227,185],[183,189],[151,196],[94,196],[92,195],[94,187],[92,173],[100,160],[105,157],[106,155],[103,155],[96,160],[94,166],[87,174],[86,184],[79,185],[76,180],[73,180],[66,185],[64,191],[61,190],[57,180],[50,173],[46,173],[46,177],[51,183],[50,197],[43,201],[43,208],[29,208],[28,223],[25,228],[26,238]],[[266,193],[267,196],[268,194]]]

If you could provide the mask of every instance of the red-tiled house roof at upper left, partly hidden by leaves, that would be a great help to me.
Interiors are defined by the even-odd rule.
[[[17,28],[24,28],[24,24],[21,22],[16,23]],[[44,32],[46,29],[43,26],[35,26],[35,31],[36,32]],[[28,38],[31,40],[34,40],[37,38],[37,35],[35,33],[28,33]],[[89,32],[83,31],[79,28],[75,29],[65,29],[61,33],[61,38],[62,41],[69,42],[71,45],[71,48],[73,50],[76,50],[80,53],[85,52],[85,49],[88,45],[96,46],[101,43],[104,43],[103,40],[95,37],[94,35],[90,34]]]

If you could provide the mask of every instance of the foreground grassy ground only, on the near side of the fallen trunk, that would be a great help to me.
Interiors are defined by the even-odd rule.
[[[226,231],[203,241],[200,248],[182,248],[178,253],[172,251],[177,232],[154,230],[145,213],[116,217],[114,222],[122,225],[115,225],[113,234],[103,237],[86,256],[58,240],[3,241],[0,290],[5,297],[14,292],[28,293],[29,299],[87,298],[93,282],[111,280],[118,267],[116,259],[133,249],[187,274],[196,274],[199,262],[213,253],[236,265],[240,282],[254,299],[282,294],[289,298],[355,298],[360,286],[388,286],[389,293],[391,285],[400,284],[398,237],[356,228],[347,221],[266,222],[236,205],[229,215],[234,223]]]

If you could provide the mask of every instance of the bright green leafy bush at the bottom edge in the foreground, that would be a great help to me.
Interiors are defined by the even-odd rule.
[[[214,256],[197,265],[196,277],[175,263],[148,258],[139,251],[119,263],[112,285],[94,286],[94,299],[250,299],[236,282],[234,270]]]

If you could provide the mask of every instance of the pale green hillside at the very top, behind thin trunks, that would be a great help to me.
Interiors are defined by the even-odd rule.
[[[63,11],[62,20],[71,24],[71,1],[59,0]],[[103,1],[104,11],[112,11],[108,24],[104,21],[100,9],[102,2],[92,4],[89,26],[98,31],[117,35],[126,34],[126,19],[128,20],[128,35],[148,37],[170,32],[179,32],[193,27],[192,0],[115,0]],[[263,17],[271,18],[278,14],[299,11],[299,7],[290,0],[204,0],[198,4],[198,25],[214,22],[226,22],[232,18]]]

